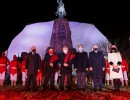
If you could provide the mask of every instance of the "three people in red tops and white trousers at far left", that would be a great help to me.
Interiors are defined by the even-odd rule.
[[[7,68],[8,66],[8,68]],[[18,69],[21,69],[22,75],[25,72],[25,59],[23,59],[22,63],[17,60],[17,56],[13,56],[13,60],[9,61],[9,59],[5,56],[5,52],[2,52],[2,56],[0,57],[0,86],[3,86],[4,81],[6,79],[5,75],[10,74],[11,86],[16,86],[18,80]],[[7,73],[9,72],[9,73]],[[22,76],[23,84],[25,85],[25,75]]]

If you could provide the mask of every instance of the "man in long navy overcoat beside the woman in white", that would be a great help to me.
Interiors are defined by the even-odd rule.
[[[103,71],[105,70],[105,59],[101,51],[98,50],[98,45],[93,46],[93,51],[89,53],[89,66],[92,71],[92,79],[94,83],[94,90],[102,91]]]

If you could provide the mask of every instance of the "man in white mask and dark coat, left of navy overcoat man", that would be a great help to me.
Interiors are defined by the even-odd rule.
[[[78,45],[74,69],[77,73],[78,90],[86,89],[86,71],[88,70],[88,53],[83,51],[83,45]]]

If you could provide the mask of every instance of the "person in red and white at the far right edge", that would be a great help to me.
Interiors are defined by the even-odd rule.
[[[124,58],[122,59],[121,67],[122,67],[122,73],[123,73],[123,79],[121,79],[122,86],[124,86],[124,80],[125,80],[125,85],[128,86],[127,72],[129,71],[129,67],[128,67],[128,63],[127,63],[126,59],[124,59]]]

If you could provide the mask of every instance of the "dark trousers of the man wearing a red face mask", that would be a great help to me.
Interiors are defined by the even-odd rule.
[[[55,71],[51,70],[49,72],[45,72],[43,88],[47,87],[49,80],[50,80],[50,88],[54,88],[54,78],[55,78]]]

